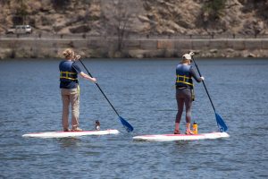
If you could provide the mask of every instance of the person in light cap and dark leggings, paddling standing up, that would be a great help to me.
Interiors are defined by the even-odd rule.
[[[191,53],[190,53],[191,54]],[[192,58],[190,54],[182,55],[182,60],[176,68],[176,99],[178,112],[175,121],[174,134],[180,134],[180,118],[183,112],[183,108],[186,108],[186,134],[194,134],[190,130],[191,123],[191,107],[194,100],[194,84],[192,77],[197,81],[204,81],[204,77],[197,77],[197,73],[190,65]]]

